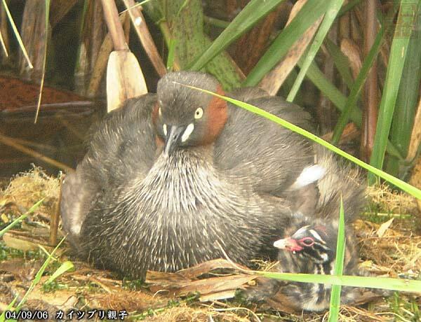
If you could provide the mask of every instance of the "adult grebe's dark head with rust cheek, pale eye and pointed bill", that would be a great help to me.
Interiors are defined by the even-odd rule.
[[[213,143],[227,120],[223,99],[188,86],[224,94],[218,81],[206,73],[178,71],[159,80],[152,120],[158,139],[165,142],[164,155]]]

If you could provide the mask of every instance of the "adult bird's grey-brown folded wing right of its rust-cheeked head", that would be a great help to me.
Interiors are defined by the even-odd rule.
[[[281,97],[265,96],[258,90],[246,90],[236,97],[313,131],[309,114]],[[313,162],[312,144],[300,134],[229,104],[227,124],[215,144],[219,169],[242,176],[258,193],[281,195]]]

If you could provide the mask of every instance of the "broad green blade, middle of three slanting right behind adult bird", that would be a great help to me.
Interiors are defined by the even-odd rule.
[[[265,55],[260,58],[258,64],[250,71],[243,85],[258,85],[263,76],[286,55],[286,52],[288,52],[295,41],[298,41],[302,34],[326,12],[327,7],[328,1],[308,0],[293,21],[275,38]]]

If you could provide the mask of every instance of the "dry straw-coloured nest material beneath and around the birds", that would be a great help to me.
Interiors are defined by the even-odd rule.
[[[1,215],[18,216],[45,197],[45,202],[41,207],[30,215],[32,221],[43,220],[55,211],[59,185],[59,179],[47,176],[39,168],[15,176],[7,188],[0,191],[0,207],[3,206]],[[370,188],[369,195],[383,211],[398,211],[401,214],[415,214],[416,212],[416,203],[412,197],[393,193],[386,186]],[[7,204],[14,204],[14,207],[4,207]],[[4,216],[1,218],[4,219]],[[48,225],[48,221],[46,223]],[[44,225],[46,223],[44,222]],[[421,237],[413,233],[412,224],[408,220],[399,218],[387,225],[363,220],[357,221],[364,267],[375,274],[388,276],[397,276],[402,273],[410,276],[421,274]],[[22,230],[25,230],[23,225]],[[64,260],[66,258],[62,255],[60,262]],[[206,274],[206,269],[209,272],[215,269],[217,264],[222,267],[226,265],[223,262],[218,262],[218,260],[206,262],[199,265],[199,268],[192,267],[174,274],[152,272],[149,274],[149,278],[154,281],[148,291],[144,288],[142,290],[125,288],[121,280],[109,272],[92,269],[85,263],[74,261],[76,270],[67,272],[58,279],[58,283],[64,288],[58,288],[53,293],[44,293],[41,288],[42,281],[47,278],[44,276],[39,286],[29,296],[27,307],[30,309],[30,305],[36,302],[34,300],[42,298],[45,302],[44,306],[51,309],[50,306],[53,302],[48,299],[54,298],[55,309],[70,309],[79,304],[80,308],[83,308],[84,305],[102,309],[126,309],[131,315],[136,316],[137,314],[145,321],[242,322],[259,321],[259,319],[267,321],[266,318],[269,318],[269,321],[271,318],[281,318],[286,321],[323,321],[323,318],[326,319],[326,314],[287,314],[285,311],[274,311],[267,305],[253,304],[251,307],[244,307],[244,304],[238,304],[235,301],[221,300],[227,293],[232,295],[235,288],[241,287],[240,284],[253,286],[254,281],[253,276],[250,278],[250,276],[241,274],[231,277]],[[260,264],[262,269],[269,269],[271,265],[271,263],[263,262]],[[3,265],[3,267],[8,267],[8,265]],[[19,270],[15,272],[13,269],[6,269],[6,271],[5,276],[14,279],[14,281],[2,282],[2,285],[11,294],[15,293],[17,287],[20,287],[19,293],[22,293],[22,284],[29,285],[31,282],[22,279]],[[222,280],[224,283],[220,283]],[[231,283],[232,289],[227,289],[226,283]],[[191,296],[193,286],[201,288],[202,294],[193,297],[193,300],[186,300]],[[171,288],[173,291],[168,291]],[[1,297],[1,299],[7,298],[9,297]],[[0,309],[8,304],[6,300],[1,299]],[[61,301],[58,301],[60,299]],[[62,302],[62,304],[58,302]],[[42,307],[42,303],[38,300],[36,307],[40,307],[40,305]],[[419,302],[418,306],[420,306]],[[387,318],[396,316],[396,313],[381,313],[385,311],[390,311],[387,302],[377,304],[375,308],[370,309],[343,306],[340,311],[340,321],[385,321]]]

